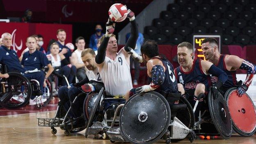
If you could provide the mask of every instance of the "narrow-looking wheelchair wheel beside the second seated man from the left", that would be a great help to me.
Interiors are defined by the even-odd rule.
[[[43,98],[47,99],[47,101],[43,103],[43,106],[48,105],[53,98],[52,79],[50,77],[46,80],[46,87],[43,87]]]

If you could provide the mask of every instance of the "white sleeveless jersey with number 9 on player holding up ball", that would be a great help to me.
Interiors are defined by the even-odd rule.
[[[100,74],[109,96],[122,97],[133,88],[130,65],[121,50],[114,61],[105,57]]]

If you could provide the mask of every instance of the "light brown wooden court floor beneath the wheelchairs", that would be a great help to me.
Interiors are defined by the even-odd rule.
[[[1,109],[0,109],[1,111]],[[53,117],[55,111],[35,112],[28,114],[15,114],[0,116],[0,144],[111,144],[107,139],[99,139],[93,136],[85,138],[85,130],[77,134],[66,136],[63,130],[57,128],[56,135],[50,133],[50,128],[37,126],[38,117]],[[116,142],[121,144],[121,142]],[[189,144],[188,140],[178,142],[178,144]],[[198,137],[193,144],[256,144],[256,135],[251,137],[232,136],[230,139],[204,140]],[[159,140],[156,144],[165,144]]]

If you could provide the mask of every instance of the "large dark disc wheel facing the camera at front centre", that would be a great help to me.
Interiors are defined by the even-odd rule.
[[[123,106],[119,126],[122,137],[133,144],[151,144],[165,134],[171,120],[167,100],[150,91],[135,94]]]

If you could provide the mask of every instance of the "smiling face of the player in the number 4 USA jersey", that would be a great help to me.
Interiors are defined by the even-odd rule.
[[[187,66],[192,60],[193,53],[191,50],[189,50],[187,47],[178,47],[177,50],[177,55],[178,55],[178,63],[181,66]]]

